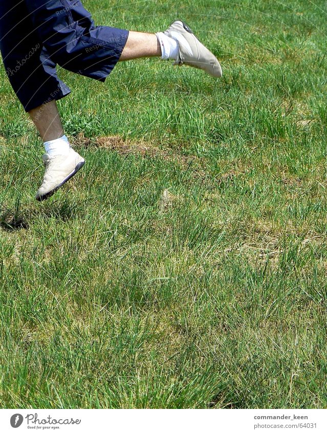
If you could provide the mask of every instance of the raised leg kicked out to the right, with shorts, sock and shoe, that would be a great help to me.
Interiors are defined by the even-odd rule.
[[[95,26],[79,0],[25,0],[51,58],[69,71],[104,81],[119,60],[162,56],[221,75],[215,56],[182,22],[148,34]]]

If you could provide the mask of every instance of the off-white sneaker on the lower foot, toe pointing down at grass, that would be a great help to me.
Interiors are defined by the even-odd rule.
[[[73,148],[68,155],[42,155],[46,173],[35,199],[48,199],[84,166],[85,160]]]

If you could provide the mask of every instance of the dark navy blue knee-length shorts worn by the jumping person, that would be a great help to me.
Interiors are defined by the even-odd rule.
[[[95,26],[79,0],[0,0],[0,50],[26,111],[70,93],[57,64],[104,81],[127,37],[127,30]]]

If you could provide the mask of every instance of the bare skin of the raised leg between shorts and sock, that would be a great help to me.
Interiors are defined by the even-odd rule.
[[[161,56],[161,48],[155,34],[129,32],[127,42],[119,61],[156,56]]]

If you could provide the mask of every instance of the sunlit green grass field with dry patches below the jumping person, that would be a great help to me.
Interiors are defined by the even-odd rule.
[[[42,144],[0,68],[0,405],[327,406],[327,6],[85,0],[184,19],[215,81],[159,59],[59,70],[87,165],[34,201]]]

